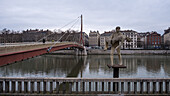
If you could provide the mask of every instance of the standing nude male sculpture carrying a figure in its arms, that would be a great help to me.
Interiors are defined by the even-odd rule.
[[[117,55],[119,57],[119,65],[122,65],[122,56],[120,53],[120,49],[121,49],[121,45],[123,44],[124,41],[130,42],[131,39],[129,37],[126,37],[125,35],[123,35],[120,32],[120,27],[116,27],[116,32],[113,32],[111,39],[105,41],[105,48],[104,50],[107,50],[108,48],[108,43],[111,43],[111,53],[110,53],[110,57],[111,57],[111,65],[113,65],[113,55],[114,55],[114,51],[115,49],[117,50]]]

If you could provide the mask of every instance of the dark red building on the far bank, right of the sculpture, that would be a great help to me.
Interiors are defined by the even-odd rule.
[[[151,32],[149,35],[147,35],[147,48],[161,48],[161,35],[157,32]]]

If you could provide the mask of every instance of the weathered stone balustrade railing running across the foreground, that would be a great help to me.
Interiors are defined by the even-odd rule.
[[[0,94],[170,94],[168,79],[0,78]]]

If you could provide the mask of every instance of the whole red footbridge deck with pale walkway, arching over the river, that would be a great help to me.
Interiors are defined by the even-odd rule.
[[[51,46],[50,46],[51,45]],[[28,47],[30,47],[28,48]],[[41,48],[40,48],[41,47]],[[33,58],[35,56],[47,54],[53,51],[65,49],[73,47],[79,50],[84,50],[84,46],[74,42],[61,42],[56,43],[55,45],[51,44],[38,44],[38,45],[27,45],[27,46],[8,46],[8,47],[0,47],[0,66],[4,66],[7,64],[15,63],[17,61],[22,61],[24,59]],[[16,52],[13,52],[12,49],[15,49]],[[17,50],[19,49],[19,51]]]

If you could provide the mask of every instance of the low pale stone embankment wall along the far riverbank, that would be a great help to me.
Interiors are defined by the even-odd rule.
[[[74,50],[59,50],[52,54],[73,55]],[[90,49],[87,51],[88,55],[110,55],[110,50],[104,51],[102,49]],[[114,54],[117,54],[115,51]],[[170,50],[121,50],[122,55],[170,55]]]

